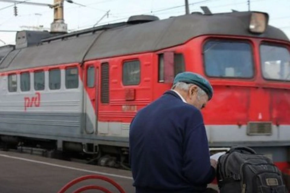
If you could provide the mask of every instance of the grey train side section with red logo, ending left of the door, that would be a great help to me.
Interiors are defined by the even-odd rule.
[[[21,91],[18,74],[16,92],[8,91],[8,76],[0,77],[0,131],[71,137],[80,133],[83,124],[82,84],[68,90],[65,89],[64,81],[61,81],[60,90],[49,90],[46,71],[45,89],[37,91],[34,90],[33,77],[31,74],[30,91]],[[64,79],[64,70],[61,70],[61,79]],[[31,107],[27,106],[26,103],[30,102],[25,101],[25,97],[30,101],[32,97],[38,98],[39,106],[32,102]]]

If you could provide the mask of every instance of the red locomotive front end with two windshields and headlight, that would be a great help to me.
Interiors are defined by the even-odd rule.
[[[269,156],[289,179],[289,39],[268,25],[266,13],[251,12],[248,18],[240,17],[249,24],[243,32],[189,42],[192,61],[199,65],[185,68],[205,75],[214,87],[214,97],[203,110],[211,149],[252,147]]]

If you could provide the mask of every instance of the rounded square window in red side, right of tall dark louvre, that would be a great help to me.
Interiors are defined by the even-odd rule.
[[[140,61],[123,63],[123,85],[138,85],[140,83]]]

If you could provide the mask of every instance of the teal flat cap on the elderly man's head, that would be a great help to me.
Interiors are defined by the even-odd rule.
[[[200,87],[205,93],[208,95],[208,100],[211,100],[213,95],[213,88],[207,79],[205,79],[200,74],[196,74],[193,72],[181,72],[176,75],[173,80],[173,84],[177,82],[185,82],[187,84],[195,84],[196,86]]]

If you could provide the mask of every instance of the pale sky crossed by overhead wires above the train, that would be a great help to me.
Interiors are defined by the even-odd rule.
[[[27,2],[53,4],[53,0],[28,0]],[[185,14],[184,0],[73,0],[80,6],[64,2],[64,21],[69,31],[98,25],[127,21],[131,15],[151,14],[166,19]],[[247,0],[188,0],[189,10],[202,11],[208,6],[212,13],[247,11]],[[10,6],[10,7],[8,7]],[[32,30],[29,26],[43,26],[49,30],[53,21],[53,9],[48,6],[17,4],[18,16],[14,16],[12,3],[0,0],[0,46],[15,44],[15,32],[1,30]],[[7,8],[6,8],[7,7]],[[250,0],[251,11],[269,14],[269,24],[283,30],[290,38],[290,0]],[[2,41],[3,42],[2,42]]]

